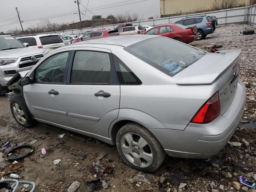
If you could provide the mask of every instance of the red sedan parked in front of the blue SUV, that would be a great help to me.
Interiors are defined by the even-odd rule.
[[[187,27],[181,24],[159,25],[151,28],[144,34],[161,35],[184,43],[191,43],[198,37],[196,26]]]

